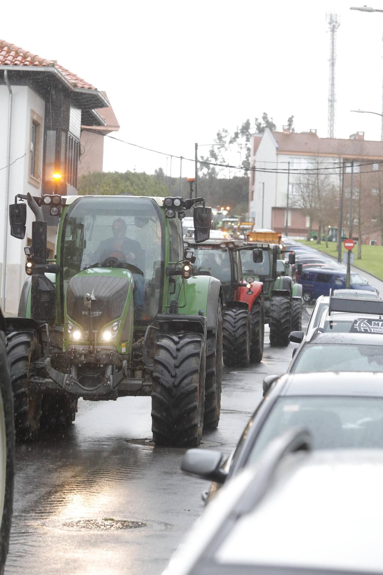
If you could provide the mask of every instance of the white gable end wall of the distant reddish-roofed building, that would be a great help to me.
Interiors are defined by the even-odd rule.
[[[256,150],[252,162],[255,160],[256,168],[272,167],[277,162],[276,142],[270,130],[263,134],[261,143]],[[249,215],[255,218],[256,228],[262,227],[262,204],[263,204],[263,228],[271,227],[271,209],[275,205],[276,174],[256,171],[254,179],[250,177]],[[264,201],[262,201],[263,186],[265,189]]]

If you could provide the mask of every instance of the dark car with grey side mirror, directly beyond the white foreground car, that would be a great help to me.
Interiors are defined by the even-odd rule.
[[[325,354],[321,362],[325,365]],[[307,428],[315,448],[383,448],[383,373],[330,370],[324,378],[323,371],[309,377],[307,373],[267,376],[264,398],[231,455],[224,458],[219,451],[190,449],[182,458],[182,471],[213,481],[206,494],[211,499],[221,485],[255,463],[271,439],[292,427]]]

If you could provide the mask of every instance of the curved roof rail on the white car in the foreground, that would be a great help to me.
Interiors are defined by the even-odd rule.
[[[272,439],[256,464],[254,481],[248,485],[233,512],[236,515],[250,513],[267,493],[271,479],[282,459],[296,451],[311,451],[311,448],[312,436],[309,431],[302,428],[290,429]]]

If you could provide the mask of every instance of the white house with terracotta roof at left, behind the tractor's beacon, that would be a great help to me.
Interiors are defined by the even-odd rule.
[[[76,194],[81,125],[104,127],[96,109],[107,106],[100,91],[57,62],[0,40],[0,291],[6,315],[17,315],[32,228],[28,210],[25,240],[11,237],[8,205],[28,192]],[[48,237],[51,257],[54,250],[55,238]]]

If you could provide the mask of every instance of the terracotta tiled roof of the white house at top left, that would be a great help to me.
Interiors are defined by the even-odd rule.
[[[0,67],[1,66],[42,66],[42,67],[55,67],[60,74],[71,83],[75,88],[85,88],[87,90],[97,90],[94,86],[85,82],[76,74],[72,74],[69,70],[60,66],[53,60],[45,60],[41,56],[27,52],[22,48],[18,48],[14,44],[10,44],[5,40],[0,40]]]

